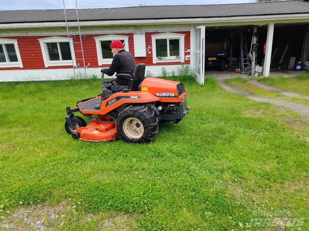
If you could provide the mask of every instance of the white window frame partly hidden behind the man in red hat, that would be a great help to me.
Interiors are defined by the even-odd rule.
[[[99,66],[103,64],[111,64],[113,59],[102,59],[102,49],[101,49],[101,41],[106,40],[125,40],[125,50],[129,51],[129,36],[125,35],[116,35],[116,34],[108,34],[103,36],[94,37],[95,39],[95,46],[97,49],[97,56],[98,56],[98,64]]]

